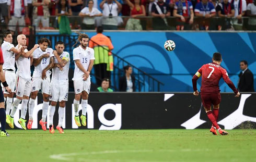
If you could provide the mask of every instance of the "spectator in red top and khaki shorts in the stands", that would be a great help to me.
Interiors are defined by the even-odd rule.
[[[129,0],[125,0],[130,6],[131,17],[126,23],[125,30],[142,30],[141,20],[137,17],[146,16],[145,7],[141,5],[141,0],[135,0],[134,4]]]

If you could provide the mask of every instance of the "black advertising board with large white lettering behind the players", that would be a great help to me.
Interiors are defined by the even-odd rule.
[[[74,93],[69,93],[63,128],[77,129],[74,121]],[[218,123],[225,129],[256,128],[256,93],[222,93]],[[32,129],[41,129],[42,95],[35,102]],[[21,104],[18,109],[20,109]],[[81,109],[81,107],[79,107]],[[56,107],[57,109],[57,107]],[[57,112],[57,110],[56,110]],[[58,118],[55,112],[54,126]],[[80,113],[82,113],[80,111]],[[15,128],[20,111],[14,116]],[[28,118],[28,114],[26,119]],[[49,127],[49,126],[48,126]],[[87,126],[79,129],[173,129],[209,128],[200,96],[192,93],[99,93],[91,92],[87,108]]]

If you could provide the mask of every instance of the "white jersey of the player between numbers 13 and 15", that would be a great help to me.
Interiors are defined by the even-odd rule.
[[[63,52],[60,55],[60,58],[66,60],[67,64],[63,67],[62,71],[57,67],[52,69],[52,81],[51,82],[58,83],[59,81],[68,81],[68,70],[69,70],[69,63],[70,63],[69,53]],[[54,56],[54,62],[55,62],[55,64],[58,63],[58,60],[55,56]]]

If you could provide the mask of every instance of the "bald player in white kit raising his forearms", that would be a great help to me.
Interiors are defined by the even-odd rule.
[[[27,42],[26,35],[20,34],[17,36],[18,45],[15,48],[20,48],[21,46],[25,46]],[[18,120],[21,127],[26,130],[26,114],[28,109],[28,100],[31,91],[31,71],[30,66],[33,64],[33,52],[39,47],[38,44],[34,45],[34,47],[28,51],[25,49],[22,53],[16,54],[15,60],[17,65],[17,72],[16,72],[16,99],[11,106],[11,113],[9,116],[10,128],[14,128],[14,115],[18,108],[19,103],[22,101],[21,104],[21,117]]]

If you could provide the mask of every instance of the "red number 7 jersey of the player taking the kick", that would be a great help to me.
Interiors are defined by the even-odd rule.
[[[228,86],[237,94],[237,89],[232,81],[228,77],[228,73],[226,69],[221,67],[215,63],[209,63],[203,65],[197,72],[195,73],[192,82],[194,91],[196,88],[196,80],[202,76],[202,84],[201,84],[201,93],[218,93],[219,90],[219,80],[223,78],[224,81],[228,84]]]

